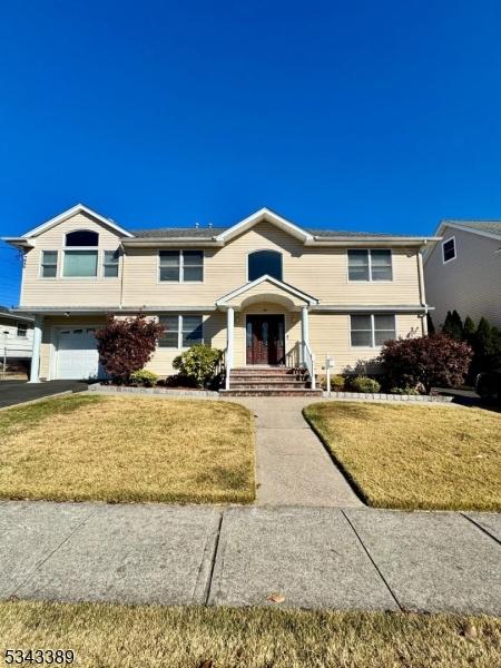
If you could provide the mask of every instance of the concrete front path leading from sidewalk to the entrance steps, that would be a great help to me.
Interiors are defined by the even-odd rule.
[[[302,415],[303,407],[318,397],[236,401],[256,416],[258,504],[363,505]]]

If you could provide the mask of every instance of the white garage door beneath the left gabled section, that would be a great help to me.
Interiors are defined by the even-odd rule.
[[[95,328],[60,330],[57,379],[95,379],[99,375]]]

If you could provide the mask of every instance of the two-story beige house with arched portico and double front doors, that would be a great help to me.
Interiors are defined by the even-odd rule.
[[[426,332],[421,252],[434,239],[421,236],[310,229],[267,208],[230,227],[131,232],[77,205],[4,240],[24,253],[32,382],[97,376],[108,313],[166,325],[149,363],[161,375],[194,343],[224,350],[227,389],[236,370],[275,365],[314,385],[327,355],[342,372]]]

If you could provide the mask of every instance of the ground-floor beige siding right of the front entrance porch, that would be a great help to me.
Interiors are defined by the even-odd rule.
[[[421,336],[422,318],[419,315],[395,315],[396,336],[401,338]],[[374,371],[373,362],[381,348],[352,347],[350,341],[350,315],[312,313],[310,315],[310,344],[315,353],[316,373],[325,373],[325,358],[334,357],[334,372],[343,373],[355,370],[360,364],[367,364],[367,372]]]

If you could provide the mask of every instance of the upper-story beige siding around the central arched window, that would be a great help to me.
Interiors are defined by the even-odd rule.
[[[203,283],[158,282],[158,252],[128,249],[124,304],[128,306],[199,306],[247,282],[247,255],[253,250],[283,253],[284,281],[322,304],[419,304],[415,249],[393,249],[393,281],[347,281],[344,248],[305,248],[269,223],[261,223],[219,249],[205,249]]]

